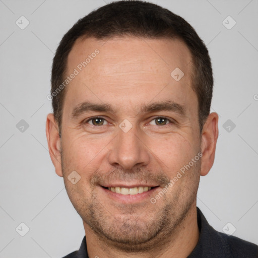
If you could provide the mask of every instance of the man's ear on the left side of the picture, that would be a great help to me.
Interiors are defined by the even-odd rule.
[[[58,126],[52,113],[49,113],[46,118],[46,138],[50,158],[55,167],[55,173],[59,176],[63,176],[60,154],[61,141],[59,137]]]

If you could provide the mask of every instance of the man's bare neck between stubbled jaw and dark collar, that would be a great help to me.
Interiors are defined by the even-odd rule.
[[[113,246],[107,245],[103,239],[91,230],[84,222],[84,229],[87,242],[87,250],[89,258],[106,257],[187,257],[195,248],[199,240],[199,228],[197,223],[197,208],[196,203],[192,205],[187,216],[182,221],[178,228],[171,232],[167,237],[167,241],[160,242],[159,246],[155,246],[154,250],[145,252],[128,253],[115,249]]]

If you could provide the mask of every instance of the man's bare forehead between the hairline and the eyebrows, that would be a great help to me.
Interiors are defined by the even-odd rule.
[[[190,51],[178,39],[79,38],[68,56],[66,75],[75,70],[77,75],[67,87],[64,102],[72,108],[85,99],[115,104],[116,97],[117,105],[123,106],[166,97],[181,104],[196,101],[191,69]],[[180,80],[175,80],[178,76]]]

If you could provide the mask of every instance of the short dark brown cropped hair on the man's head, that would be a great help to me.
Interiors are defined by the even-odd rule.
[[[79,37],[108,39],[115,36],[172,38],[182,40],[191,52],[192,89],[198,97],[199,125],[210,113],[213,73],[207,47],[183,18],[158,5],[142,1],[118,1],[94,10],[80,19],[60,41],[52,64],[51,95],[64,81],[68,54]],[[54,118],[61,133],[62,106],[66,89],[52,97]]]

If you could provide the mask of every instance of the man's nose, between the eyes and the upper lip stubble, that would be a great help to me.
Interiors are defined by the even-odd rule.
[[[145,143],[147,136],[138,132],[136,125],[128,132],[119,127],[117,131],[118,135],[111,142],[109,164],[124,170],[147,165],[150,161],[150,152]]]

